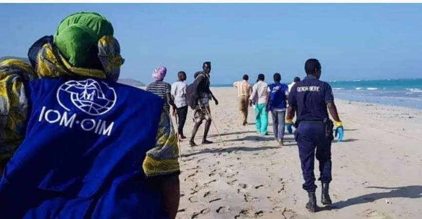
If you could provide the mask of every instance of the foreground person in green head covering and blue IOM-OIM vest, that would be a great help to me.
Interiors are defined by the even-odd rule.
[[[1,219],[174,219],[176,136],[164,101],[117,83],[110,21],[81,12],[0,62]]]

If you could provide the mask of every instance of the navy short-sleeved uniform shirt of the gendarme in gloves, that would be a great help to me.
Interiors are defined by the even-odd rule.
[[[324,121],[327,103],[334,102],[331,86],[314,76],[307,76],[292,87],[288,102],[297,110],[297,121]]]

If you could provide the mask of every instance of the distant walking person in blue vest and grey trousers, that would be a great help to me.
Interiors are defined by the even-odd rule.
[[[274,73],[274,83],[268,86],[267,109],[271,111],[272,128],[274,130],[274,138],[280,146],[284,146],[284,128],[286,118],[286,97],[288,94],[288,86],[282,84],[281,75]]]

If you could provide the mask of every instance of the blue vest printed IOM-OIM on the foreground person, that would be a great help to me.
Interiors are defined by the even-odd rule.
[[[142,171],[163,101],[87,77],[25,85],[26,137],[0,181],[1,219],[165,219]]]

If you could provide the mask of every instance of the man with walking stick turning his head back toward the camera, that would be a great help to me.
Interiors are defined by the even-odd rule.
[[[206,122],[202,144],[212,144],[211,141],[207,140],[211,127],[210,99],[213,99],[215,105],[218,105],[218,100],[210,90],[211,62],[204,62],[202,64],[202,70],[202,72],[195,73],[195,81],[186,88],[188,104],[194,110],[193,119],[195,125],[193,126],[191,140],[189,141],[191,146],[196,146],[194,138],[203,120]]]

